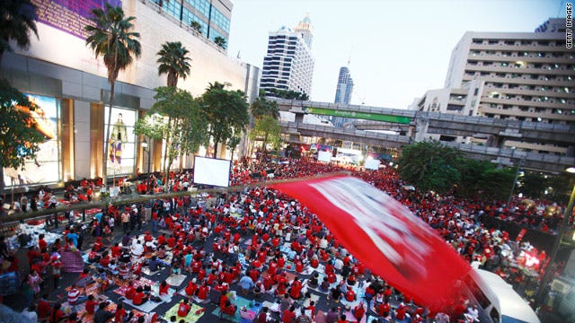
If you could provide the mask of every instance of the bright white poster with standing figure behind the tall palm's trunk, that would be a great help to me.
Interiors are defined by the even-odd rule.
[[[104,120],[108,120],[108,111],[105,110]],[[134,149],[134,125],[136,111],[129,109],[112,108],[110,136],[106,149],[106,159],[109,176],[131,174],[134,172],[136,151]],[[108,125],[106,125],[107,127]]]

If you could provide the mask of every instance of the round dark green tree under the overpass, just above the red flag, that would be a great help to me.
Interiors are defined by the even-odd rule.
[[[402,179],[423,191],[449,192],[459,183],[457,162],[462,154],[438,141],[424,141],[403,147],[398,160]]]

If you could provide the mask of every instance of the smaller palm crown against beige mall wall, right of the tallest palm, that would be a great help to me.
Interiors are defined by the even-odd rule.
[[[188,49],[181,46],[180,41],[167,41],[158,51],[158,75],[168,75],[168,86],[178,85],[178,79],[186,79],[190,74],[190,57]]]

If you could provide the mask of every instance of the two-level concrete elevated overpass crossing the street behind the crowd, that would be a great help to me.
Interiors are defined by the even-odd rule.
[[[544,144],[575,146],[575,127],[517,120],[468,117],[456,114],[387,109],[314,101],[276,100],[279,109],[296,114],[296,122],[282,122],[284,132],[291,135],[322,136],[362,144],[401,147],[419,140],[418,134],[483,135],[491,137],[492,146],[443,142],[471,158],[513,165],[523,161],[532,170],[561,172],[575,165],[574,156],[519,152],[503,146],[504,139],[526,140]],[[303,123],[305,114],[356,118],[353,127],[338,128]],[[355,128],[357,127],[357,128]],[[399,130],[400,135],[387,135],[366,130]],[[395,131],[397,131],[395,130]],[[572,151],[572,149],[571,149]]]

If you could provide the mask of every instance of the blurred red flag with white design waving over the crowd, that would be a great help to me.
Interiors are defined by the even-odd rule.
[[[374,274],[431,309],[451,301],[470,270],[427,223],[361,179],[334,176],[272,187],[307,206]]]

